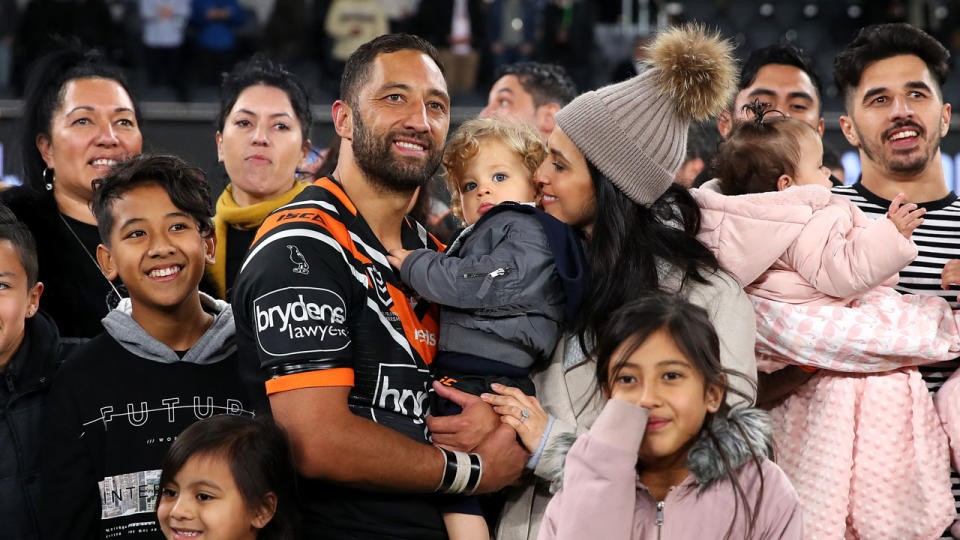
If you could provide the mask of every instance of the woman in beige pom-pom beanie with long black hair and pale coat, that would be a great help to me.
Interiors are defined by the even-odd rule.
[[[592,337],[623,304],[659,290],[706,309],[733,390],[727,401],[743,406],[756,397],[753,308],[696,240],[699,208],[673,184],[690,121],[718,114],[732,97],[731,50],[699,27],[664,31],[649,47],[644,73],[557,113],[537,179],[544,210],[583,231],[590,275],[573,332],[534,376],[537,398],[508,388],[487,399],[533,455],[532,478],[510,493],[499,539],[536,538],[565,450],[603,407]]]

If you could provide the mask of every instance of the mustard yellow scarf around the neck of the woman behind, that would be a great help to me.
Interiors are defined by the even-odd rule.
[[[263,223],[270,212],[289,203],[308,185],[295,182],[293,189],[269,201],[251,206],[238,206],[233,200],[233,184],[228,184],[217,199],[217,213],[213,216],[213,230],[217,237],[216,260],[207,265],[207,277],[217,287],[217,297],[227,296],[227,228],[254,229]]]

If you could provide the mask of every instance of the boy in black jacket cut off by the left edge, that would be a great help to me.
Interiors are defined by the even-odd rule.
[[[39,534],[41,420],[61,352],[37,278],[30,229],[0,205],[0,538]]]

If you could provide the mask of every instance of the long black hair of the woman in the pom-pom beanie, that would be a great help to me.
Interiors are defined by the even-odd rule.
[[[587,161],[593,180],[596,211],[586,243],[589,276],[584,302],[574,329],[584,352],[593,354],[593,338],[606,327],[610,314],[625,302],[660,289],[666,266],[688,280],[706,283],[717,271],[716,257],[699,240],[700,207],[682,186],[672,184],[649,207],[624,195]]]

